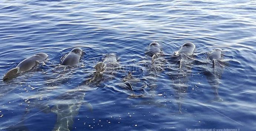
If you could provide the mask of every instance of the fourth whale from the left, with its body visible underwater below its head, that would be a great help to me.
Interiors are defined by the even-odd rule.
[[[146,49],[145,52],[145,59],[139,62],[139,65],[142,67],[143,76],[140,79],[140,84],[144,83],[144,87],[140,88],[141,91],[145,92],[143,96],[143,101],[140,104],[151,104],[155,106],[163,105],[157,99],[154,99],[157,96],[157,87],[159,82],[159,77],[161,77],[166,60],[164,59],[164,53],[162,51],[162,45],[159,42],[151,42]],[[133,86],[135,79],[127,79],[125,81],[127,89],[131,87],[142,87],[142,86]],[[138,83],[138,82],[137,82]],[[148,87],[148,88],[147,88]],[[142,90],[143,89],[143,90]]]

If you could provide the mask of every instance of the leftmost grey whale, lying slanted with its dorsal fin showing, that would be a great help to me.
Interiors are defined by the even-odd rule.
[[[17,76],[19,73],[27,72],[37,65],[37,63],[42,62],[48,58],[45,53],[35,54],[27,59],[20,62],[16,68],[9,70],[3,77],[3,80]]]

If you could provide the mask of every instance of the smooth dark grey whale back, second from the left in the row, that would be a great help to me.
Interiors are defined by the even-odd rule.
[[[82,51],[83,50],[80,48],[72,49],[72,51],[69,52],[69,54],[67,56],[65,56],[61,65],[67,65],[67,66],[76,65],[80,60]]]

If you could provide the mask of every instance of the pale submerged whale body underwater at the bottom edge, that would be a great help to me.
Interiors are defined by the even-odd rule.
[[[52,113],[57,116],[56,123],[52,131],[70,131],[73,128],[74,119],[79,113],[82,105],[88,107],[92,111],[92,105],[84,100],[88,88],[76,87],[63,93],[58,100],[59,103],[52,106]]]

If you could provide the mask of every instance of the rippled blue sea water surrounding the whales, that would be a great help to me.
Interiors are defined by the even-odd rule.
[[[254,0],[2,0],[0,77],[36,53],[49,58],[12,80],[0,80],[0,130],[51,131],[66,118],[57,117],[54,107],[63,105],[60,111],[67,114],[79,103],[72,131],[255,131],[255,13]],[[144,66],[151,63],[145,52],[154,41],[166,61],[159,62],[164,71],[157,73]],[[203,62],[213,49],[223,49],[226,64],[218,88],[223,101],[214,100],[202,73],[201,67],[211,70],[210,62],[191,65],[182,83],[186,92],[175,90],[172,74],[178,64],[168,56],[185,42],[196,45],[193,59]],[[79,64],[61,66],[75,47],[84,51]],[[121,68],[85,86],[109,53],[116,54]],[[145,86],[145,96],[132,97],[119,86],[129,71],[139,81],[134,88]],[[82,100],[76,93],[62,99],[70,90],[81,91]]]

